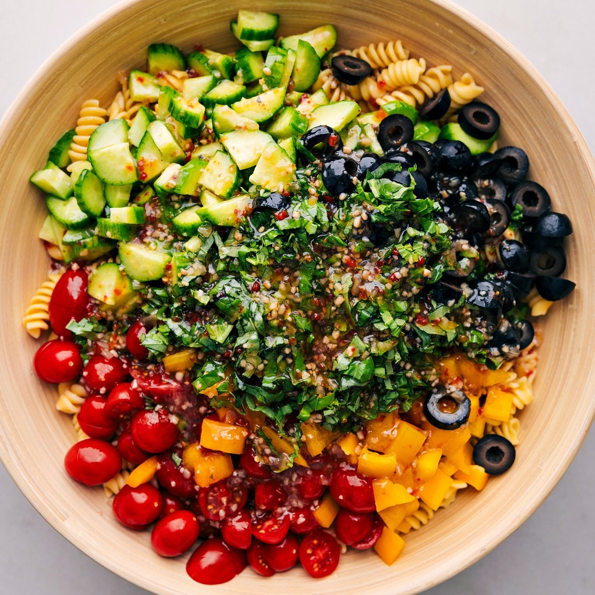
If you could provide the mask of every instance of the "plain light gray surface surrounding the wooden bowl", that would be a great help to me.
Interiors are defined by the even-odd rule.
[[[48,54],[112,4],[112,0],[2,0],[0,113]],[[595,11],[591,3],[459,0],[459,4],[502,33],[537,66],[594,151]],[[398,18],[397,2],[395,7]],[[155,35],[158,37],[158,32]],[[498,81],[491,84],[497,86]],[[571,171],[561,174],[572,183]],[[543,397],[555,399],[556,395]],[[595,593],[594,459],[595,433],[591,432],[552,496],[523,527],[472,568],[426,595]],[[0,494],[0,593],[146,593],[111,574],[56,533],[18,491],[2,466]],[[134,563],[134,553],[130,562]],[[197,585],[196,592],[199,590]]]

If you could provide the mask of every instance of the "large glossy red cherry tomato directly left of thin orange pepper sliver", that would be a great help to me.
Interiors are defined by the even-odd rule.
[[[66,472],[86,486],[99,486],[120,472],[122,458],[108,442],[88,438],[70,447],[64,457]]]

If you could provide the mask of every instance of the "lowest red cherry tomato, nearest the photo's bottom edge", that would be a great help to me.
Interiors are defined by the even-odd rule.
[[[227,583],[238,572],[238,561],[231,548],[218,537],[203,541],[186,563],[192,580],[203,585]]]

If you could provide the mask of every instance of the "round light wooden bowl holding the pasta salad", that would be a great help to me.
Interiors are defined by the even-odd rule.
[[[171,42],[231,51],[237,43],[229,21],[245,2],[135,0],[123,2],[82,29],[52,55],[15,100],[0,126],[0,455],[36,509],[60,533],[121,577],[163,594],[244,593],[264,588],[293,595],[313,593],[417,593],[452,577],[486,555],[512,533],[556,485],[591,424],[595,412],[595,256],[591,249],[595,211],[595,165],[566,109],[536,69],[509,43],[467,12],[444,0],[314,2],[262,0],[259,10],[280,11],[280,33],[323,23],[339,30],[338,46],[402,39],[412,55],[429,64],[452,63],[455,74],[470,71],[486,87],[484,98],[499,111],[503,143],[519,145],[531,159],[531,177],[545,186],[555,209],[571,217],[565,276],[577,281],[569,299],[541,321],[545,343],[536,400],[522,412],[522,443],[507,474],[481,493],[465,493],[430,524],[406,537],[392,567],[374,553],[350,553],[324,581],[302,569],[266,582],[245,571],[231,583],[205,587],[184,571],[185,558],[159,558],[149,533],[117,524],[101,488],[84,488],[65,474],[62,460],[74,441],[70,418],[54,408],[56,390],[32,369],[39,342],[21,327],[21,317],[48,270],[36,239],[45,216],[41,193],[27,182],[45,164],[55,139],[76,121],[80,103],[103,105],[116,90],[115,73],[142,67],[146,46]],[[581,249],[581,246],[584,249]]]

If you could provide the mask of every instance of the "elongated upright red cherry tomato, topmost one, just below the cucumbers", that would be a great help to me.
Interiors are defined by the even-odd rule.
[[[57,335],[70,339],[72,333],[66,328],[68,322],[73,319],[78,322],[86,317],[90,302],[88,280],[87,273],[81,269],[66,271],[58,279],[48,304],[49,324]]]

